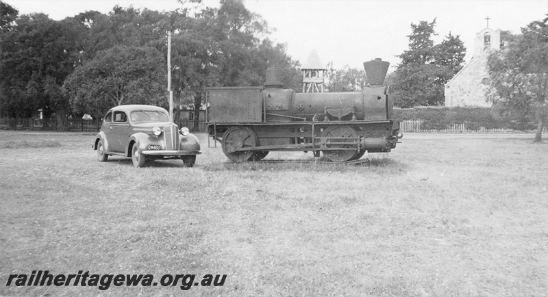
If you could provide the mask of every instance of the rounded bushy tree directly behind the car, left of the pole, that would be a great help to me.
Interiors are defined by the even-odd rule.
[[[151,47],[113,47],[98,53],[66,79],[75,112],[102,115],[123,104],[166,107],[162,53]]]

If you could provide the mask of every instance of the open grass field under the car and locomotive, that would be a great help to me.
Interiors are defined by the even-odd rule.
[[[405,135],[361,166],[134,168],[93,134],[0,133],[0,295],[547,296],[548,143]],[[8,287],[10,274],[227,274],[223,286]]]

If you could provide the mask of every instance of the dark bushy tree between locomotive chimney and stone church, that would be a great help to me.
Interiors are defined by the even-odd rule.
[[[464,66],[462,40],[449,32],[443,42],[434,45],[435,25],[435,19],[411,24],[409,50],[399,55],[401,64],[391,78],[399,107],[442,105],[445,83]]]

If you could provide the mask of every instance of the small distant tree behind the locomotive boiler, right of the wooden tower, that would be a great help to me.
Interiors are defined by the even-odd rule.
[[[367,77],[363,69],[350,68],[334,69],[333,62],[327,64],[327,85],[329,92],[356,92],[367,85]]]

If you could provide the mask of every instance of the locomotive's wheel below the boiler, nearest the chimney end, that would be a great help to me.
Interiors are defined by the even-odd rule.
[[[339,151],[323,151],[325,158],[332,162],[347,162],[362,157],[363,153],[358,153],[358,148],[354,141],[358,138],[356,130],[349,126],[331,126],[323,131],[321,137],[332,137],[333,140],[327,142],[338,142],[338,144],[331,144],[331,147],[339,148],[356,148],[353,150],[339,150]],[[341,142],[348,142],[344,144]]]

